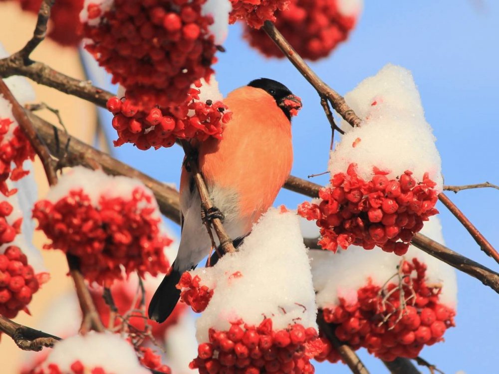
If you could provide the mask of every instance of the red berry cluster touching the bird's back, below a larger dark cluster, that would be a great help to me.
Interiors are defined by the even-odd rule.
[[[199,81],[197,84],[200,86]],[[111,97],[107,109],[114,114],[112,125],[118,132],[114,146],[133,143],[147,150],[171,147],[176,139],[221,139],[222,125],[229,122],[232,114],[220,101],[194,101],[199,100],[199,93],[198,89],[190,88],[184,103],[176,106],[164,103],[149,110],[134,105],[129,99]]]

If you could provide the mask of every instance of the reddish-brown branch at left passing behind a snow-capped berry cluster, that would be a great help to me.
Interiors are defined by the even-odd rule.
[[[33,124],[29,120],[26,112],[14,98],[2,79],[0,79],[0,92],[3,97],[12,105],[12,115],[19,124],[19,127],[23,131],[24,135],[29,140],[34,151],[40,158],[43,169],[45,170],[48,184],[50,186],[55,186],[57,184],[57,174],[55,172],[50,152],[38,138],[36,130],[34,129]],[[73,278],[76,287],[76,293],[78,294],[78,300],[80,302],[80,307],[83,312],[82,329],[85,331],[87,327],[91,327],[96,331],[102,332],[104,331],[104,326],[100,321],[95,305],[93,304],[92,297],[90,296],[90,292],[85,285],[83,275],[79,270],[78,262],[71,255],[67,255],[66,257],[68,261],[69,272]]]

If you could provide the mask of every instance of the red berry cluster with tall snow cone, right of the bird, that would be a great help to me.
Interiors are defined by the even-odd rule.
[[[362,123],[342,121],[330,154],[330,185],[298,213],[316,220],[320,245],[350,244],[403,255],[443,188],[440,155],[411,73],[387,65],[345,95]]]

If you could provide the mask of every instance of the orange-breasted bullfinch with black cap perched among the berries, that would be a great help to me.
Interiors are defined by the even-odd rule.
[[[222,140],[210,138],[197,149],[199,169],[210,197],[238,245],[273,203],[293,161],[291,116],[301,101],[283,84],[267,78],[251,81],[224,100],[232,111]],[[149,305],[149,318],[163,322],[175,308],[183,272],[209,253],[211,240],[201,218],[201,200],[184,165],[180,181],[182,235],[179,251]],[[205,212],[206,213],[206,212]],[[217,245],[218,245],[217,240]]]

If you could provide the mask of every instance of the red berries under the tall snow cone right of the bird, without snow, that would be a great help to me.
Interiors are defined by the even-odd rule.
[[[319,204],[304,202],[298,214],[317,220],[321,239],[319,245],[336,252],[338,245],[350,244],[373,249],[376,245],[386,252],[403,255],[423,221],[437,214],[435,182],[428,173],[416,183],[412,172],[388,180],[387,172],[374,168],[371,181],[357,175],[356,164],[347,173],[335,174],[331,187],[319,190]]]

